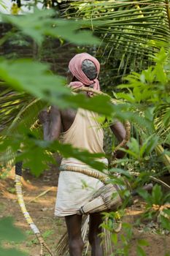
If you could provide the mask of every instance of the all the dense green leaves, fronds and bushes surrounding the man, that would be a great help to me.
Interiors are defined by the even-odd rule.
[[[64,86],[66,78],[52,74],[49,64],[35,59],[1,57],[0,165],[11,159],[21,159],[38,176],[47,167],[47,162],[54,162],[49,151],[58,151],[65,157],[77,157],[102,170],[103,166],[93,160],[100,156],[63,146],[58,141],[45,142],[40,129],[29,129],[45,105],[86,108],[107,116],[108,120],[128,120],[132,131],[128,149],[123,149],[127,155],[115,162],[117,168],[111,170],[111,182],[115,182],[115,172],[122,173],[146,201],[144,217],[158,217],[161,227],[170,230],[170,210],[164,209],[162,214],[152,209],[153,204],[170,203],[170,195],[164,195],[158,184],[151,195],[141,189],[150,176],[160,177],[170,171],[170,15],[166,4],[169,1],[135,1],[134,4],[133,1],[116,0],[72,1],[62,6],[60,15],[53,8],[35,8],[34,13],[23,16],[1,14],[1,20],[13,26],[1,39],[1,45],[19,29],[22,37],[31,37],[38,48],[47,37],[52,37],[78,45],[77,51],[87,49],[95,54],[103,64],[101,86],[117,99],[118,104],[112,105],[107,96],[87,99],[82,94],[72,95]],[[56,17],[63,13],[63,18]],[[107,129],[108,124],[105,127]],[[16,156],[20,145],[22,154]],[[114,149],[115,144],[111,147]],[[131,170],[139,176],[134,178]],[[128,203],[129,195],[125,190],[125,203]],[[123,215],[123,209],[120,209],[120,215]],[[114,213],[109,217],[115,217]],[[5,221],[5,233],[2,230],[4,219],[0,222],[0,241],[11,239],[8,228],[14,228],[8,219]],[[128,224],[123,227],[126,235],[122,238],[122,255],[128,255],[133,227]],[[111,228],[109,224],[107,228]],[[15,237],[20,239],[20,234]],[[117,246],[116,234],[112,240]],[[142,246],[144,241],[139,241],[136,248],[139,256],[145,255]],[[15,255],[14,251],[3,250],[5,255]],[[23,254],[16,252],[16,255]]]

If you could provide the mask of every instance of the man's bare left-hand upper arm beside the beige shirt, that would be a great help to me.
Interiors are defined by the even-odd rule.
[[[44,139],[57,140],[61,133],[61,111],[56,107],[51,107],[50,113],[42,110],[39,113],[39,121],[42,124]]]

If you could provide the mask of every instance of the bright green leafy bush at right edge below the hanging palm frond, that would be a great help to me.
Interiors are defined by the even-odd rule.
[[[125,78],[127,83],[117,86],[123,92],[116,94],[118,98],[131,102],[136,111],[152,121],[155,132],[163,135],[163,142],[169,140],[169,57],[170,52],[162,48],[153,57],[155,64],[141,73],[132,72],[128,75]]]

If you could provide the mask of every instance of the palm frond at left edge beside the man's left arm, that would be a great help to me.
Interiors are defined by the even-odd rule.
[[[0,105],[0,134],[2,134],[2,132],[14,131],[22,120],[26,126],[31,126],[45,104],[26,93],[12,91],[1,82]]]

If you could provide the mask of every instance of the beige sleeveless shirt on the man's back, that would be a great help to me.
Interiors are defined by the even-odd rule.
[[[104,132],[97,118],[97,113],[79,108],[72,126],[61,133],[61,142],[72,144],[74,148],[86,149],[90,153],[104,153]],[[63,159],[61,164],[68,161],[75,162],[74,159],[69,158]]]

